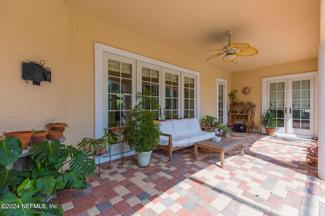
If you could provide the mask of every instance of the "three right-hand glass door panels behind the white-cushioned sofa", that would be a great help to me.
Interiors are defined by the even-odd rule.
[[[161,119],[197,117],[197,76],[177,70],[139,62],[138,84],[158,100]],[[181,96],[182,100],[181,100]]]

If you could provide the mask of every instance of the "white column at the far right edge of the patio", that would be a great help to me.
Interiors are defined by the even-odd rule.
[[[325,30],[325,29],[324,29]],[[325,180],[325,40],[318,47],[318,178]]]

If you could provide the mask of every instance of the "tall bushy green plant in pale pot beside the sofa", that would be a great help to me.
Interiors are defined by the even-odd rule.
[[[151,111],[160,110],[160,106],[151,95],[153,93],[146,89],[143,93],[136,94],[137,104],[131,110],[131,118],[126,123],[126,141],[129,148],[135,150],[139,166],[149,165],[152,148],[158,145],[160,137],[160,123],[155,121],[159,112]]]

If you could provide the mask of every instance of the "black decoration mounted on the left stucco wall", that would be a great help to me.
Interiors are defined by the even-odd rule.
[[[51,68],[44,67],[45,61],[41,60],[37,62],[23,62],[22,64],[22,78],[26,80],[32,80],[32,84],[41,85],[41,82],[51,82]]]

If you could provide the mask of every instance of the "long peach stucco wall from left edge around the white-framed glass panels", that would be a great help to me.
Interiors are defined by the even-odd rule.
[[[94,136],[94,42],[200,72],[200,115],[215,115],[216,77],[231,73],[119,27],[71,10],[59,0],[0,0],[0,131],[66,122],[65,144]],[[23,62],[45,61],[52,82],[22,79]]]

